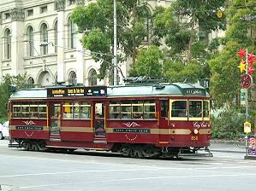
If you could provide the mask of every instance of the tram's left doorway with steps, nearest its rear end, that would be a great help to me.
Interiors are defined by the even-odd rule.
[[[61,139],[61,104],[51,103],[51,118],[50,118],[50,139]]]

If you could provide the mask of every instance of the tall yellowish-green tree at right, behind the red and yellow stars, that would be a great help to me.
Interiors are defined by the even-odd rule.
[[[244,21],[248,14],[253,14],[256,1],[233,1],[227,9],[229,28],[223,38],[223,50],[209,61],[211,67],[211,96],[215,107],[223,107],[223,103],[232,106],[235,96],[239,94],[240,71],[237,68],[239,56],[236,52],[241,48],[253,50],[255,37],[248,31],[255,30],[253,21]]]

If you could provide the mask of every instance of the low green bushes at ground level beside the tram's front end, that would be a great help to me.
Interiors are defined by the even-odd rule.
[[[253,126],[253,118],[248,119]],[[217,116],[211,116],[211,138],[235,139],[243,134],[243,123],[246,122],[244,109],[232,107]]]

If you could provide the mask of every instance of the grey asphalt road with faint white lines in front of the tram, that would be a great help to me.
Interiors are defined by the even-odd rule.
[[[118,154],[28,152],[0,141],[2,191],[199,191],[254,189],[256,160],[243,153],[213,158],[128,159]],[[220,144],[220,147],[221,144]]]

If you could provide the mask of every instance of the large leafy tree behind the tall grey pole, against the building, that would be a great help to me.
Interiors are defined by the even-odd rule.
[[[142,48],[145,38],[156,39],[158,35],[158,32],[148,32],[145,23],[151,26],[152,20],[163,9],[156,9],[152,13],[145,1],[117,0],[116,12],[119,61],[132,57],[135,63],[138,49]],[[99,78],[104,78],[113,68],[113,1],[97,0],[86,7],[78,6],[72,13],[72,20],[83,34],[83,47],[92,51],[92,59],[101,62]]]

